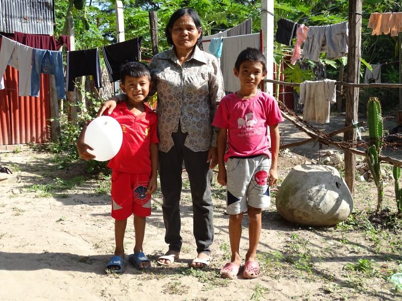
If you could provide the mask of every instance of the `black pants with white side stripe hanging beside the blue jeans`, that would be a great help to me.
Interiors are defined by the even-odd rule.
[[[76,77],[84,75],[92,75],[95,87],[102,87],[98,48],[67,52],[67,91],[74,91]]]

